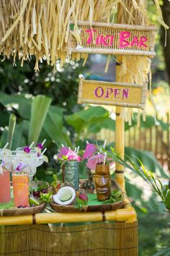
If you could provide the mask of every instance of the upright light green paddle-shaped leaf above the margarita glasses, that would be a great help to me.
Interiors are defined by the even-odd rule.
[[[40,132],[42,130],[45,118],[48,114],[48,109],[50,107],[51,99],[45,97],[44,95],[37,95],[32,101],[31,108],[31,119],[30,119],[30,129],[28,135],[28,144],[32,141],[37,143],[40,137]]]

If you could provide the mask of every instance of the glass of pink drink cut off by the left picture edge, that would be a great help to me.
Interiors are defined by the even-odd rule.
[[[0,174],[0,203],[1,202],[10,202],[11,201],[11,192],[10,192],[10,174],[9,171],[1,166]]]

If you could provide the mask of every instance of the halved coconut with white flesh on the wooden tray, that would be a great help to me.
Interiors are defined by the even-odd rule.
[[[76,198],[76,190],[71,186],[63,186],[53,195],[53,201],[58,205],[71,205]]]

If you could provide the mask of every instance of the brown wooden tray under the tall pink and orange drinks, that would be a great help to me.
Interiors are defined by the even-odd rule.
[[[37,205],[30,208],[12,208],[0,210],[0,216],[20,216],[20,215],[32,215],[35,213],[41,213],[45,209],[46,203]],[[0,217],[1,218],[1,217]]]

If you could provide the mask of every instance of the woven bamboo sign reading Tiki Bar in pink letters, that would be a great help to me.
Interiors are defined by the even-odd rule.
[[[156,27],[112,23],[70,22],[68,49],[86,54],[156,56]]]

